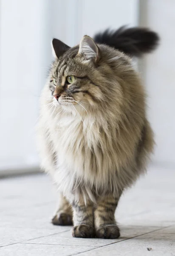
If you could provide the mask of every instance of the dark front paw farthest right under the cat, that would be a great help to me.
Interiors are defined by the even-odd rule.
[[[105,225],[99,227],[96,230],[96,237],[103,238],[103,239],[116,239],[120,236],[120,230],[117,225]]]

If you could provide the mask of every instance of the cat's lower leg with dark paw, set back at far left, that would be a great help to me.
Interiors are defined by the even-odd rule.
[[[68,200],[60,194],[59,207],[52,218],[54,225],[67,226],[73,224],[72,207]]]

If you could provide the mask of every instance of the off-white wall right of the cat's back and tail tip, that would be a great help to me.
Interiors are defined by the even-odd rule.
[[[141,24],[161,38],[141,67],[157,143],[154,161],[175,166],[175,0],[141,0]]]

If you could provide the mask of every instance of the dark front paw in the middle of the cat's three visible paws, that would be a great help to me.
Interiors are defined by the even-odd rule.
[[[90,225],[79,224],[72,229],[73,237],[80,238],[93,238],[94,237],[94,228]]]

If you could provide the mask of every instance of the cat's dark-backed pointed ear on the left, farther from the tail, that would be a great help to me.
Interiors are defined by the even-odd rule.
[[[67,44],[64,44],[62,41],[56,38],[52,40],[51,46],[52,53],[55,58],[59,58],[70,48]]]

